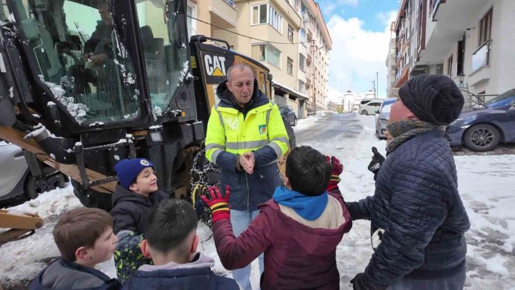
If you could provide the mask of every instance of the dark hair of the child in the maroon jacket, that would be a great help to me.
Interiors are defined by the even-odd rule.
[[[331,165],[310,146],[295,147],[286,159],[286,176],[292,190],[309,196],[320,195],[331,179]]]

